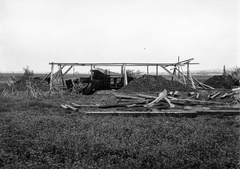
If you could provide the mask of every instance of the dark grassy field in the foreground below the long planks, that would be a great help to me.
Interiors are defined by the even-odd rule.
[[[0,98],[2,168],[238,168],[239,118],[85,116]]]

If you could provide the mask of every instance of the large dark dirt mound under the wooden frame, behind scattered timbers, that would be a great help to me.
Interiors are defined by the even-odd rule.
[[[149,91],[194,91],[194,89],[177,81],[170,81],[162,76],[143,75],[121,88],[120,92],[149,92]]]

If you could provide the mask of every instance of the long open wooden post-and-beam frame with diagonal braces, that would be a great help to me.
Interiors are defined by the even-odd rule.
[[[62,86],[65,87],[64,83],[64,75],[66,75],[74,66],[90,66],[91,70],[91,79],[93,77],[92,70],[95,68],[95,66],[120,66],[122,70],[122,76],[124,78],[124,86],[127,85],[127,66],[146,66],[147,67],[147,74],[149,74],[149,66],[155,66],[156,67],[156,75],[158,75],[158,68],[161,67],[163,70],[165,70],[169,75],[171,75],[172,80],[176,80],[182,84],[186,84],[186,79],[189,80],[192,84],[193,88],[196,88],[196,84],[203,87],[203,88],[209,88],[210,86],[207,86],[205,84],[200,83],[196,78],[192,77],[189,69],[190,64],[199,64],[199,63],[191,63],[191,61],[194,60],[193,58],[179,61],[176,63],[49,63],[51,65],[51,72],[45,77],[50,76],[50,90],[53,89],[54,81],[57,79],[61,81]],[[180,70],[182,66],[187,65],[187,75],[184,75],[184,73]],[[54,66],[58,66],[58,70],[54,73]],[[63,73],[63,68],[68,67],[68,69]],[[173,67],[173,72],[171,72],[168,67]],[[178,75],[177,75],[178,73]],[[182,79],[180,78],[180,75],[182,75]],[[196,84],[195,84],[196,83]]]

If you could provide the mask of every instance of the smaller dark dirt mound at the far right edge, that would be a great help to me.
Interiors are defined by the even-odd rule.
[[[216,75],[207,79],[204,83],[214,88],[226,89],[231,89],[232,86],[239,85],[239,81],[231,75]]]

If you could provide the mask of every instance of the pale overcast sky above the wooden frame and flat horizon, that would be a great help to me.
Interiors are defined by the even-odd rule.
[[[49,62],[240,67],[239,0],[0,0],[0,72]]]

